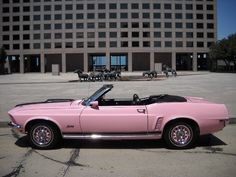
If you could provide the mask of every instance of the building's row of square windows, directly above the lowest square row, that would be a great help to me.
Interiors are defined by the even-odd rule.
[[[98,38],[106,38],[106,32],[98,32]],[[194,37],[194,33],[193,32],[186,32],[186,38],[193,38]],[[54,35],[52,35],[51,33],[44,33],[43,34],[43,39],[52,39],[52,37],[54,36],[54,39],[62,39],[62,33],[55,33]],[[132,32],[131,33],[132,38],[149,38],[151,36],[150,32]],[[153,33],[154,38],[161,38],[161,37],[165,37],[165,38],[172,38],[174,37],[172,32],[164,32],[163,35],[161,32],[154,32]],[[80,38],[83,39],[85,38],[85,34],[83,32],[77,32],[76,36],[74,36],[76,38]],[[87,38],[95,38],[95,32],[87,32]],[[117,32],[110,32],[109,33],[109,37],[110,38],[118,38]],[[128,32],[121,32],[120,36],[121,38],[127,38],[129,37],[129,33]],[[214,33],[206,33],[204,34],[203,32],[197,32],[196,33],[196,37],[197,38],[214,38]],[[34,40],[40,40],[42,38],[40,33],[36,33],[33,34],[32,38]],[[73,33],[65,33],[64,35],[65,39],[72,39],[73,38]],[[183,38],[183,32],[176,32],[175,33],[175,38]],[[23,34],[21,36],[21,39],[23,40],[30,40],[30,35],[29,34]],[[12,35],[12,40],[16,41],[16,40],[21,40],[20,39],[20,35],[18,34],[14,34]],[[3,35],[2,36],[2,40],[3,41],[9,41],[10,40],[10,36],[9,35]]]

